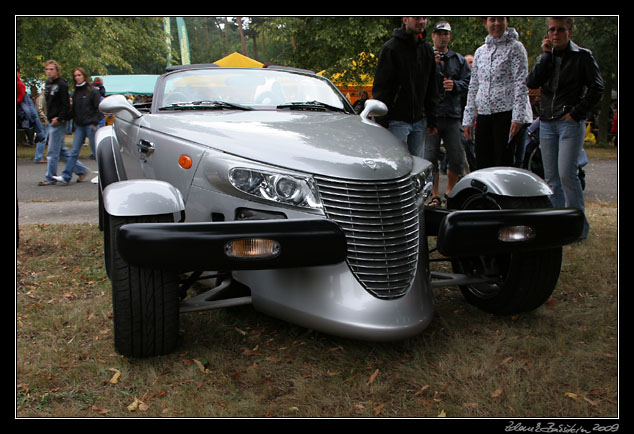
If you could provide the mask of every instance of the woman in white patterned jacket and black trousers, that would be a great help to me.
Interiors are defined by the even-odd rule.
[[[462,125],[472,140],[478,169],[513,166],[515,143],[532,121],[526,76],[528,56],[508,17],[482,19],[489,35],[473,59]],[[477,118],[477,119],[476,119]]]

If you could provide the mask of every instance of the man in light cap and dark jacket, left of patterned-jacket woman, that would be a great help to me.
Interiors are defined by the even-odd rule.
[[[462,107],[463,99],[469,89],[471,69],[465,58],[449,49],[451,25],[440,21],[432,32],[436,59],[436,81],[440,91],[436,122],[438,134],[425,136],[425,159],[434,164],[435,179],[432,189],[432,205],[441,203],[438,197],[438,160],[440,141],[447,150],[447,189],[445,195],[453,189],[458,177],[464,170],[465,153],[462,143]]]

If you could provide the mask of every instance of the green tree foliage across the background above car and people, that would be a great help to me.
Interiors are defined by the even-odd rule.
[[[442,19],[452,25],[451,46],[457,52],[474,53],[484,43],[481,18],[466,16],[429,17],[428,41],[433,25]],[[545,17],[509,19],[532,66],[541,54]],[[401,17],[243,17],[242,29],[237,17],[185,17],[185,22],[192,63],[212,63],[245,47],[243,54],[262,63],[325,71],[328,77],[338,74],[358,83],[362,76],[374,75],[377,55]],[[171,56],[177,62],[175,25],[171,37]],[[618,73],[618,17],[576,17],[573,39],[593,51],[611,89]],[[17,17],[16,40],[18,66],[27,81],[45,78],[43,63],[49,58],[70,77],[75,66],[92,75],[160,73],[168,56],[161,17]]]

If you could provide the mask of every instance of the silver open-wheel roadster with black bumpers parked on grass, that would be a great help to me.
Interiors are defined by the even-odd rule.
[[[583,224],[514,168],[425,206],[432,166],[372,121],[385,105],[358,115],[307,71],[172,67],[151,104],[100,108],[116,114],[97,133],[99,208],[127,356],[173,351],[181,314],[242,304],[367,340],[424,330],[437,286],[495,314],[535,309]],[[430,246],[452,273],[430,270]]]

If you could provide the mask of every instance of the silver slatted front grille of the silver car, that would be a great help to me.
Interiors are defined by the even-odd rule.
[[[347,262],[357,280],[379,298],[405,294],[418,261],[419,217],[412,179],[315,181],[326,216],[346,234]]]

